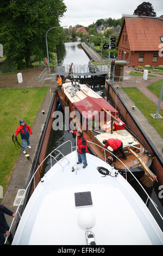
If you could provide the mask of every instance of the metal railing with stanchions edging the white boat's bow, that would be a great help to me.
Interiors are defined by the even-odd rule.
[[[98,144],[96,144],[96,143],[94,143],[94,142],[90,142],[90,141],[87,141],[87,142],[88,142],[88,143],[91,143],[91,144],[94,144],[94,145],[96,145],[97,147],[102,148],[102,149],[104,150],[104,157],[105,157],[105,162],[106,162],[106,151],[108,151],[109,153],[111,153],[111,151],[109,151],[108,149],[103,148],[101,145],[98,145]],[[40,167],[42,166],[43,162],[45,162],[45,161],[48,159],[48,157],[51,157],[51,158],[50,158],[51,168],[52,168],[52,166],[54,165],[54,164],[52,164],[52,159],[54,159],[54,160],[61,166],[62,170],[64,170],[65,166],[66,166],[68,163],[70,163],[70,161],[66,158],[66,156],[65,156],[64,154],[62,154],[62,153],[58,150],[60,147],[62,147],[62,145],[66,144],[66,143],[70,143],[70,145],[71,145],[71,153],[72,153],[72,151],[73,151],[72,149],[75,148],[75,147],[72,146],[72,141],[68,140],[68,141],[62,143],[61,145],[59,145],[57,148],[55,148],[55,149],[40,163],[40,165],[39,165],[39,166],[37,167],[37,169],[35,170],[35,173],[33,174],[32,178],[30,179],[30,181],[29,181],[29,183],[28,183],[28,185],[27,185],[27,187],[26,187],[26,190],[24,191],[24,194],[23,194],[23,196],[22,196],[22,198],[21,198],[21,201],[20,201],[20,203],[19,203],[19,205],[18,205],[18,207],[17,207],[17,210],[16,210],[16,212],[15,212],[16,214],[18,214],[18,216],[20,217],[20,219],[21,219],[22,216],[20,215],[19,209],[20,209],[20,206],[22,205],[22,201],[23,201],[23,199],[24,199],[24,197],[25,197],[25,195],[26,195],[26,192],[27,192],[29,186],[32,184],[32,182],[33,182],[33,184],[34,184],[34,190],[35,190],[35,188],[36,188],[36,186],[35,186],[35,174],[37,173],[37,170],[40,169]],[[58,154],[57,156],[53,156],[53,155],[52,155],[55,151],[59,152],[59,154]],[[58,157],[59,155],[62,155],[63,158],[58,161],[58,160],[57,160],[57,157]],[[149,197],[148,193],[146,192],[145,188],[142,187],[142,185],[140,184],[139,180],[136,179],[136,177],[135,177],[134,174],[128,169],[128,167],[126,166],[126,164],[124,164],[120,159],[118,159],[118,157],[117,157],[116,155],[114,155],[113,153],[111,153],[111,155],[115,156],[116,159],[117,159],[118,161],[120,161],[120,162],[123,164],[123,166],[125,167],[125,169],[126,169],[126,180],[127,180],[127,170],[128,170],[128,172],[129,172],[129,173],[133,176],[133,178],[137,181],[137,183],[140,185],[140,187],[142,188],[143,192],[145,192],[145,194],[146,194],[146,196],[147,196],[147,200],[146,200],[145,205],[147,205],[148,200],[150,200],[151,203],[153,204],[155,210],[158,212],[158,214],[159,214],[161,220],[163,221],[163,217],[161,216],[159,210],[156,208],[156,206],[155,206],[153,200]],[[62,166],[62,164],[61,164],[61,161],[62,161],[63,159],[66,159],[66,160],[67,160],[67,164],[66,164],[65,166]],[[77,159],[76,159],[76,160],[77,160]],[[77,173],[76,173],[76,174],[77,174]],[[40,181],[43,182],[43,178],[41,178]],[[22,213],[22,214],[23,214],[23,213]],[[10,230],[11,230],[11,228],[12,228],[12,225],[14,224],[15,221],[16,221],[15,218],[13,218],[13,220],[12,220],[12,222],[11,222],[11,225],[10,225],[9,232],[10,232]],[[7,239],[8,239],[8,237],[6,237],[5,243],[7,242]]]

